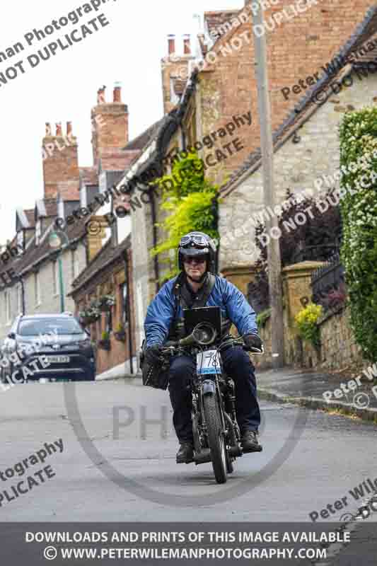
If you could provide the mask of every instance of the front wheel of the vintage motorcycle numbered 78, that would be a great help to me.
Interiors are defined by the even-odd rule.
[[[207,423],[208,444],[211,450],[212,468],[217,483],[226,483],[226,444],[221,426],[219,405],[214,393],[207,393],[203,400],[204,417]]]

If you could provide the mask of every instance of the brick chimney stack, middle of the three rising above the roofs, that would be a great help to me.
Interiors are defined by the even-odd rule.
[[[92,147],[93,163],[117,151],[128,143],[128,108],[122,103],[122,92],[116,84],[112,102],[106,102],[106,87],[98,89],[97,105],[92,108]]]

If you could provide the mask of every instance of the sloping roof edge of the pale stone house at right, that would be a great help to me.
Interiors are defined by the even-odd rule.
[[[354,33],[349,40],[341,47],[340,51],[335,55],[334,59],[337,57],[346,58],[358,47],[364,45],[367,41],[370,41],[372,37],[377,37],[377,6],[374,8],[369,8],[366,12],[366,17],[361,24],[357,25]],[[364,63],[369,60],[376,60],[373,59],[373,52],[369,52],[364,58]],[[327,63],[326,63],[327,64]],[[359,62],[358,62],[359,64]],[[355,65],[357,66],[357,65]],[[347,67],[347,63],[345,66],[340,67],[340,70],[337,74],[334,75],[324,75],[320,81],[315,83],[315,85],[306,91],[306,95],[301,98],[298,102],[296,107],[289,112],[289,115],[286,117],[284,122],[277,127],[277,129],[272,134],[272,141],[274,145],[274,151],[277,151],[279,147],[281,147],[291,136],[294,135],[294,132],[301,127],[322,105],[318,102],[315,103],[315,95],[318,94],[320,91],[326,91],[327,97],[323,100],[323,103],[327,100],[329,96],[332,95],[331,89],[327,88],[329,84],[337,79],[337,77],[344,76],[349,74],[352,71],[352,68],[349,71],[346,71],[344,67]],[[253,151],[248,158],[245,159],[243,164],[236,169],[236,171],[231,175],[231,178],[228,180],[228,183],[221,187],[220,193],[222,197],[226,197],[236,190],[236,187],[233,186],[234,183],[246,172],[254,173],[257,171],[258,168],[262,165],[262,154],[261,149],[258,147]]]

